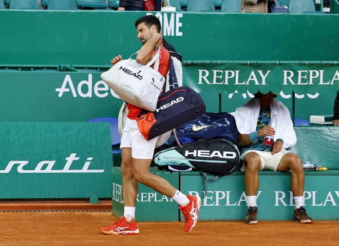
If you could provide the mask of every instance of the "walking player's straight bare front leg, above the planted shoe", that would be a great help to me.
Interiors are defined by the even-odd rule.
[[[132,149],[121,149],[122,195],[125,207],[136,207],[138,196],[138,182],[132,173]]]

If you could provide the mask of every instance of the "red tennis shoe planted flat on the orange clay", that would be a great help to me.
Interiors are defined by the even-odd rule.
[[[112,223],[110,227],[103,227],[100,229],[101,233],[104,234],[122,234],[122,235],[137,235],[139,233],[138,223],[132,224],[127,223],[124,216]]]

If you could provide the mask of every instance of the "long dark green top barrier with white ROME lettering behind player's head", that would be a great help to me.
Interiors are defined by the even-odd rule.
[[[141,47],[145,12],[0,12],[0,65],[109,65]],[[156,14],[156,13],[154,13]],[[339,15],[157,13],[183,59],[337,60]]]

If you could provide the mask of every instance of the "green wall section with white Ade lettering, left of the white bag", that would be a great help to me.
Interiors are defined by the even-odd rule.
[[[0,72],[0,121],[88,121],[118,117],[100,72]]]

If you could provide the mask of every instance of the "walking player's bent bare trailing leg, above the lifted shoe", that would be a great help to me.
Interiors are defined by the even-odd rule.
[[[149,172],[151,162],[152,159],[132,158],[132,173],[135,180],[165,196],[173,197],[177,189],[174,188],[166,179]]]

